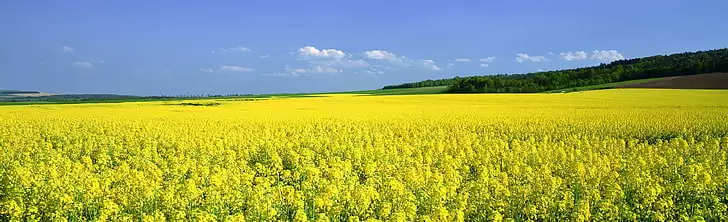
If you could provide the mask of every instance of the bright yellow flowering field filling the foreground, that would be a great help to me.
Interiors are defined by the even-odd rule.
[[[0,221],[728,221],[719,90],[0,106],[0,149]]]

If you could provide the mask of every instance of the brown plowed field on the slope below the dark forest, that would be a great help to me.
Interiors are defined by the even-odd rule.
[[[617,88],[728,89],[728,73],[673,76],[651,82],[621,85]]]

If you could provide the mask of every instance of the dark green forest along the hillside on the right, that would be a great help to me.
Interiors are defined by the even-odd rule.
[[[598,66],[536,72],[425,80],[383,89],[449,86],[449,92],[544,92],[636,79],[728,72],[728,48],[618,60]]]

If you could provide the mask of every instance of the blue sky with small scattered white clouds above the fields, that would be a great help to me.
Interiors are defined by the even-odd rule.
[[[374,89],[728,47],[728,1],[3,1],[0,89]]]

